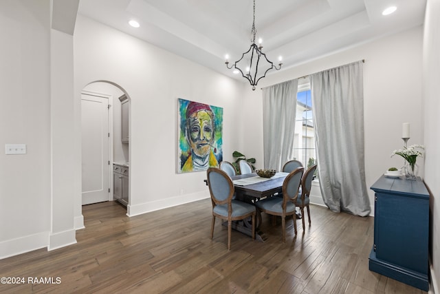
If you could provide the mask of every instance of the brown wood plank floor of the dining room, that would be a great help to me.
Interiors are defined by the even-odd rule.
[[[0,260],[1,277],[26,279],[0,293],[426,293],[369,271],[373,218],[311,206],[311,226],[297,220],[294,239],[287,220],[283,243],[281,220],[263,214],[267,241],[232,231],[228,251],[220,220],[210,240],[211,210],[206,199],[129,218],[117,202],[87,205],[78,244]]]

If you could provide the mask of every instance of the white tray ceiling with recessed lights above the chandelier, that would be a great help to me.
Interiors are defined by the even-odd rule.
[[[397,11],[383,16],[391,5]],[[236,61],[248,50],[252,6],[252,0],[81,0],[78,13],[244,82],[224,59]],[[425,7],[426,0],[256,0],[256,36],[271,61],[283,56],[286,69],[421,25]]]

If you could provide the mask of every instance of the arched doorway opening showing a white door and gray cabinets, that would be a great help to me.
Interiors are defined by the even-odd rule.
[[[122,140],[129,101],[122,87],[108,81],[89,83],[81,92],[83,205],[114,200],[122,191],[123,204],[129,204],[129,138]],[[116,175],[120,167],[124,174]]]

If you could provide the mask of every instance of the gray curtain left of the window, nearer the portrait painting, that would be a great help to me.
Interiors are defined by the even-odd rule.
[[[298,79],[263,89],[264,167],[281,171],[292,159]]]

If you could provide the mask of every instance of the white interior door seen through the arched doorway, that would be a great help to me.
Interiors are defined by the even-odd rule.
[[[81,94],[83,205],[110,200],[109,100]]]

